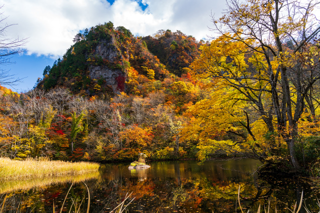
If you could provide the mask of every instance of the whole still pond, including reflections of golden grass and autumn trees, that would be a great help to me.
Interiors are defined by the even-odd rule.
[[[127,212],[236,212],[240,186],[240,205],[245,212],[256,212],[259,204],[269,206],[269,212],[290,212],[288,208],[293,210],[302,190],[303,206],[319,210],[318,187],[301,179],[258,177],[252,174],[260,164],[258,160],[148,164],[150,168],[140,170],[129,170],[129,163],[103,164],[99,172],[79,176],[1,182],[0,207],[2,212],[53,212],[54,206],[54,211],[60,212],[66,197],[63,212],[73,212],[74,206],[86,212],[87,185],[90,212],[110,212],[131,192],[125,200],[125,204],[131,201]],[[306,211],[302,208],[300,212]]]

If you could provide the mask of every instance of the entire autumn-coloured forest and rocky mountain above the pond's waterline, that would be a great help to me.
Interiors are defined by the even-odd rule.
[[[285,2],[286,12],[297,8]],[[230,0],[225,15],[212,19],[218,36],[206,43],[179,30],[133,36],[111,22],[78,33],[35,89],[0,88],[1,154],[241,156],[289,161],[295,170],[315,162],[320,28],[306,16],[313,4],[299,7],[295,19],[279,5]]]

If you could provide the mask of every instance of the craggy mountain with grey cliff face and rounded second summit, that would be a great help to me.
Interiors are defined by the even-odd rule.
[[[110,21],[78,33],[73,41],[62,59],[44,69],[38,88],[65,87],[82,95],[145,95],[146,84],[159,85],[171,73],[181,76],[201,44],[180,31],[135,37]]]

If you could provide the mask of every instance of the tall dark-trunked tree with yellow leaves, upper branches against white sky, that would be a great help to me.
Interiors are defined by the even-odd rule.
[[[263,120],[268,132],[277,131],[297,170],[298,122],[320,78],[319,41],[314,39],[320,27],[311,20],[317,3],[228,0],[224,15],[212,17],[212,30],[220,36],[203,46],[192,64],[194,76],[209,91],[228,88],[232,104],[250,106],[250,116],[259,116],[255,119]]]

